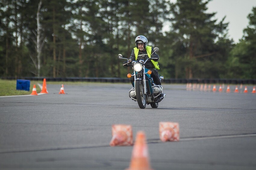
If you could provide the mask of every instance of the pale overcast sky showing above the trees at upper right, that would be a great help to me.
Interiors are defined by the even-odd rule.
[[[176,2],[176,0],[170,0]],[[256,7],[256,0],[212,0],[207,5],[207,13],[216,12],[213,19],[220,22],[226,16],[224,23],[229,23],[228,35],[233,38],[235,43],[243,36],[249,20],[248,14],[252,12],[252,8]]]

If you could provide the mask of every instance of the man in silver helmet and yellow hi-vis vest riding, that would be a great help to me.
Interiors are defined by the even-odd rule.
[[[159,60],[159,56],[157,55],[157,53],[154,53],[154,48],[148,46],[148,39],[143,36],[143,35],[139,35],[135,38],[135,44],[136,47],[133,48],[132,53],[130,58],[128,59],[129,61],[125,61],[123,62],[123,64],[126,64],[127,62],[131,62],[131,61],[137,61],[140,59],[143,59],[144,61],[148,58],[156,58],[156,59],[152,59],[152,60],[148,60],[145,63],[145,68],[149,69],[152,71],[151,76],[154,80],[154,83],[156,85],[160,85],[161,86],[161,80],[158,74],[158,71],[156,69],[159,69],[159,65],[158,65],[158,60]],[[152,54],[152,56],[150,56]],[[126,66],[130,66],[129,64],[127,64]],[[130,81],[133,85],[134,82],[134,76],[132,76],[130,78]],[[160,96],[161,99],[159,99],[159,101],[161,101],[164,98],[164,94],[162,93],[162,95]]]

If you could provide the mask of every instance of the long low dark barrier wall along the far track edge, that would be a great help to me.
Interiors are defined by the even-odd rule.
[[[66,78],[53,78],[53,77],[1,77],[5,80],[36,80],[43,81],[86,81],[86,82],[108,82],[108,83],[129,83],[128,78],[117,77],[66,77]],[[164,79],[163,83],[225,83],[225,84],[256,84],[256,80],[239,80],[239,79]]]

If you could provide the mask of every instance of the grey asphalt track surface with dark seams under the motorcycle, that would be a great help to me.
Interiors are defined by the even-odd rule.
[[[67,94],[47,84],[48,94],[0,97],[0,169],[128,168],[133,147],[109,146],[113,124],[131,125],[134,140],[145,132],[155,170],[256,169],[252,87],[249,93],[163,87],[157,109],[140,109],[128,97],[130,84],[64,84]],[[179,123],[180,141],[160,141],[162,121]]]

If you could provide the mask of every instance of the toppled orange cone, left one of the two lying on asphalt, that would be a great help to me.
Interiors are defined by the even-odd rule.
[[[110,146],[133,145],[133,131],[131,125],[112,125],[112,139]]]

